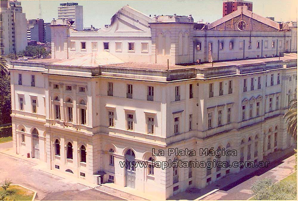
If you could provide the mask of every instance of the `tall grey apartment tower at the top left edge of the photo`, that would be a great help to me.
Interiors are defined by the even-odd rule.
[[[26,48],[26,24],[21,2],[1,0],[1,54],[18,53]]]

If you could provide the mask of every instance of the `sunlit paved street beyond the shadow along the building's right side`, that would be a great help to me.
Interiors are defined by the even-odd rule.
[[[271,178],[273,179],[273,182],[277,182],[283,178],[285,178],[287,175],[294,172],[294,164],[295,164],[295,157],[291,156],[289,158],[286,158],[283,161],[277,161],[278,163],[281,163],[277,167],[274,167],[272,169],[269,169],[267,172],[265,172],[262,175],[255,175],[254,177],[244,181],[243,183],[240,183],[239,185],[227,190],[219,190],[207,197],[205,197],[203,200],[247,200],[250,197],[252,197],[251,187],[254,182],[257,180],[261,180],[263,178]],[[274,166],[274,164],[272,164]]]

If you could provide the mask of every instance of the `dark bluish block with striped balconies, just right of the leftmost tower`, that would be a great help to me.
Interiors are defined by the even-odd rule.
[[[27,20],[27,40],[45,42],[45,30],[43,19]]]

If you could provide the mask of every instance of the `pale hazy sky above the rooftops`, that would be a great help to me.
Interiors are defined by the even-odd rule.
[[[251,0],[253,12],[275,21],[297,21],[297,0]],[[60,3],[77,2],[83,6],[84,27],[101,28],[110,24],[111,17],[124,5],[146,15],[192,15],[194,21],[213,22],[222,17],[223,0],[41,0],[41,18],[45,22],[58,18]],[[27,19],[39,17],[38,0],[21,0]]]

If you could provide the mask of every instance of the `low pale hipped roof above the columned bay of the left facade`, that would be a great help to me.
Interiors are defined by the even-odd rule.
[[[91,52],[88,54],[83,54],[75,56],[70,59],[65,59],[54,63],[55,65],[66,65],[66,66],[86,66],[86,67],[96,67],[99,65],[109,65],[123,63],[121,59],[110,54],[107,51],[102,52]]]

